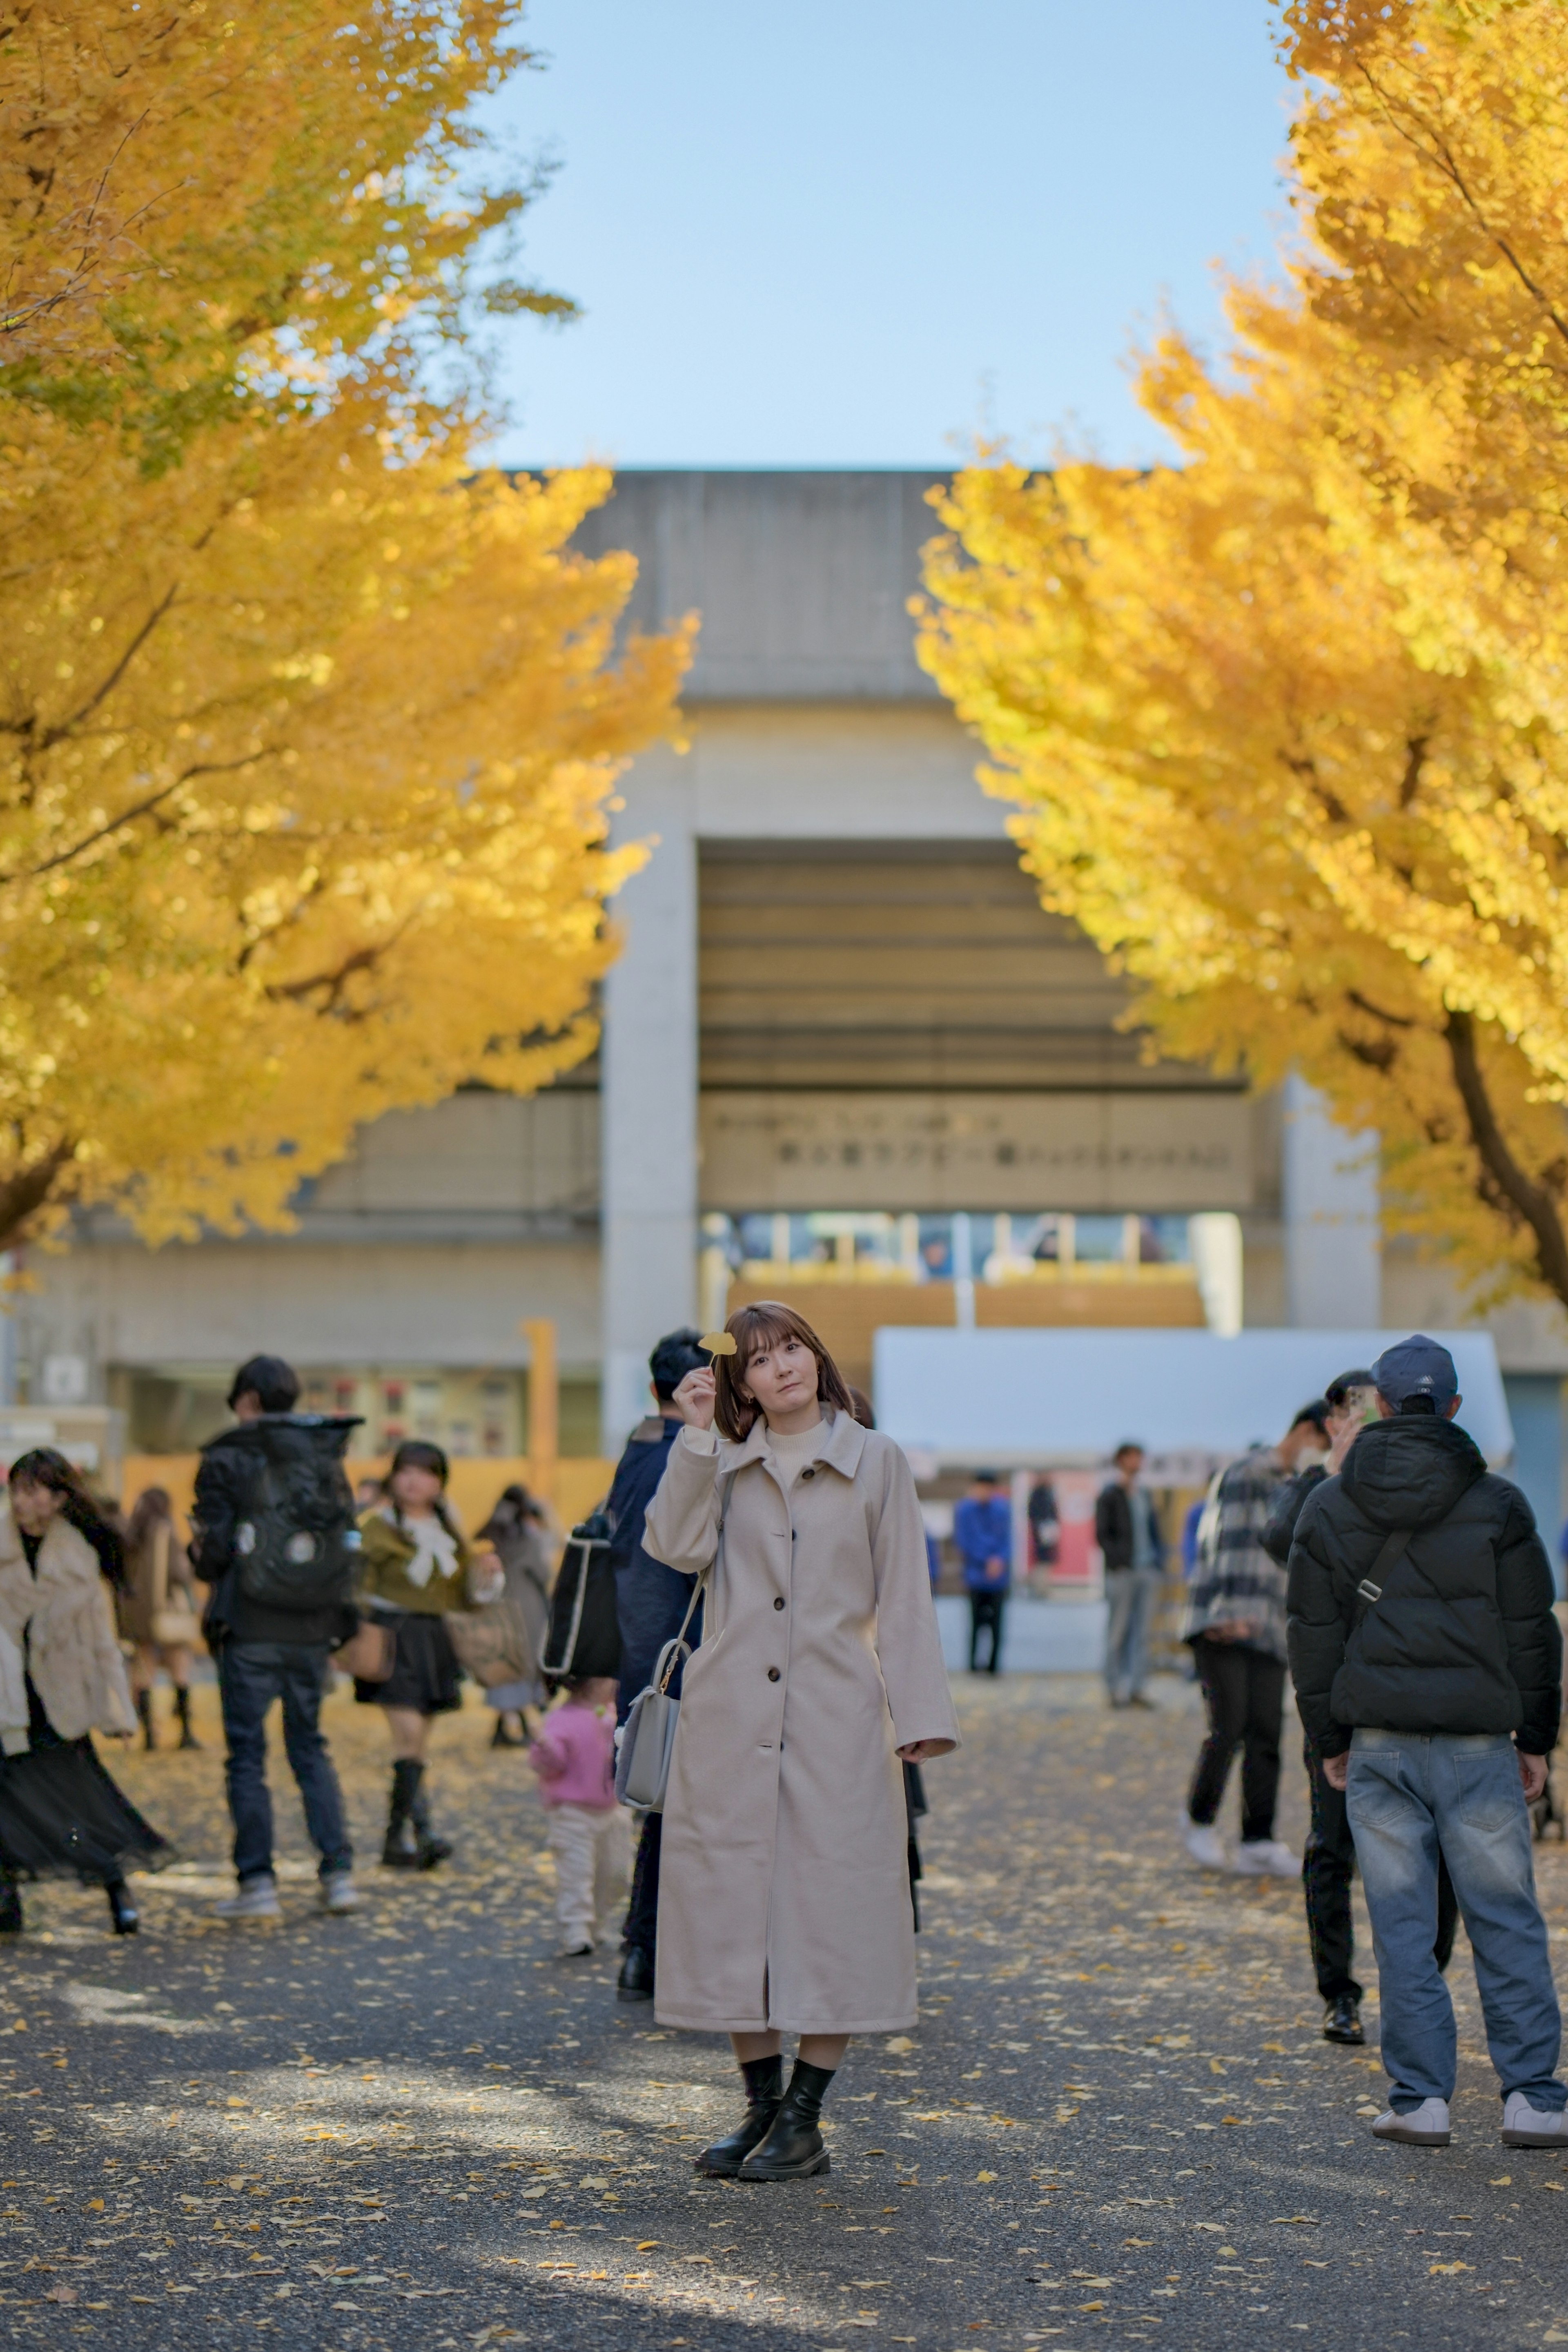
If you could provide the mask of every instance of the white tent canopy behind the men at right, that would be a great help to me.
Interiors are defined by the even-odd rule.
[[[1493,1468],[1514,1454],[1490,1331],[1450,1350],[1460,1423]],[[933,1465],[1100,1463],[1124,1437],[1157,1458],[1232,1458],[1279,1437],[1340,1371],[1406,1331],[877,1331],[877,1421]]]

